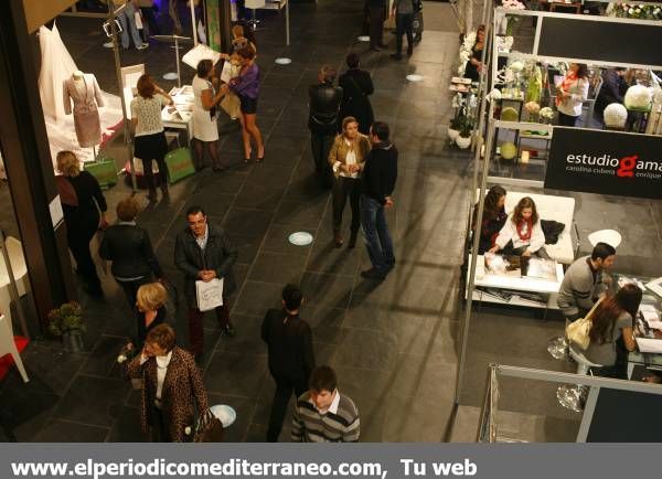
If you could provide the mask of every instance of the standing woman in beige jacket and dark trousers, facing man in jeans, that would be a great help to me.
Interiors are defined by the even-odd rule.
[[[356,234],[361,225],[361,213],[359,211],[361,171],[370,148],[367,137],[359,132],[356,118],[349,116],[343,119],[342,134],[335,137],[331,151],[329,151],[329,163],[335,178],[333,181],[333,242],[335,247],[341,247],[343,244],[341,233],[342,212],[348,202],[348,196],[352,206],[351,236],[348,247],[351,249],[356,245]]]

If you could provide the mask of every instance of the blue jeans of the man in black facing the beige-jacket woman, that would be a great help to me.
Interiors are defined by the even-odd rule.
[[[380,274],[388,273],[395,264],[395,256],[384,205],[364,194],[361,195],[361,226],[370,262]]]

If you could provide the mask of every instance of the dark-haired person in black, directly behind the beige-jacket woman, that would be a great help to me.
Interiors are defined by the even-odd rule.
[[[370,73],[359,70],[359,55],[350,53],[346,57],[346,64],[350,70],[338,78],[338,85],[342,87],[338,125],[342,125],[343,118],[353,116],[359,120],[359,131],[367,135],[375,120],[367,96],[372,95],[375,88]]]

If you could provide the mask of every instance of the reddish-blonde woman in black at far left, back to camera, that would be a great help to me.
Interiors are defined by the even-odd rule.
[[[73,151],[58,152],[56,163],[61,174],[55,177],[55,183],[64,212],[67,244],[84,280],[83,289],[89,295],[103,296],[89,242],[97,230],[108,226],[106,199],[96,178],[88,171],[81,171],[81,161]]]

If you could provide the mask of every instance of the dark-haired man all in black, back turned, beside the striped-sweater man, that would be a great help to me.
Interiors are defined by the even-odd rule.
[[[314,369],[310,326],[299,318],[303,294],[298,286],[282,289],[282,309],[269,309],[261,326],[267,343],[269,371],[276,382],[267,440],[277,443],[282,419],[292,391],[299,397],[308,390],[308,380]]]

